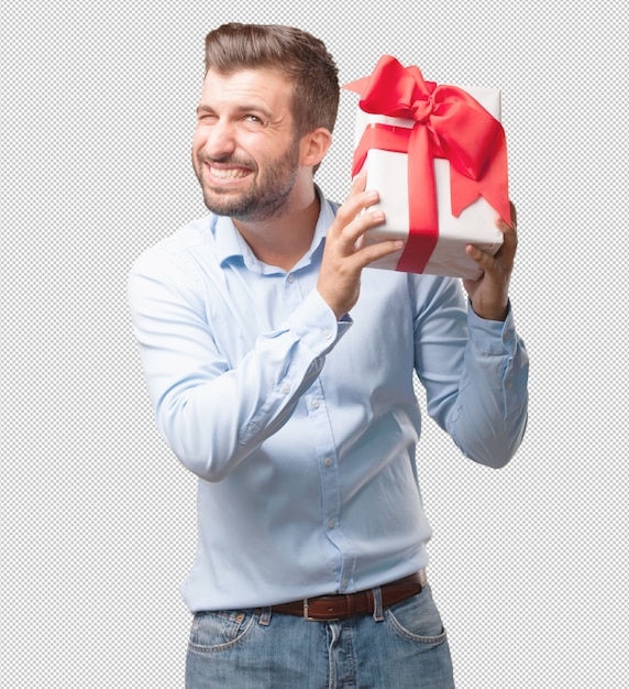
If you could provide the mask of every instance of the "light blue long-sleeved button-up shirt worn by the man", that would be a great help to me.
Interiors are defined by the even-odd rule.
[[[191,611],[352,592],[426,566],[413,369],[466,456],[500,467],[520,445],[528,361],[510,308],[482,320],[456,280],[366,269],[338,322],[316,289],[333,217],[323,203],[289,273],[212,215],[131,271],[157,426],[198,477]]]

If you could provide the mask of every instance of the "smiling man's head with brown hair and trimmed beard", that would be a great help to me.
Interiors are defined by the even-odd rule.
[[[310,34],[250,24],[209,33],[192,140],[207,207],[260,221],[313,198],[338,103],[336,67]]]

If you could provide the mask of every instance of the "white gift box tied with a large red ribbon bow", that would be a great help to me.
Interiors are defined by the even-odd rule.
[[[405,241],[369,266],[477,280],[465,247],[495,253],[496,218],[510,222],[500,91],[426,81],[388,55],[344,88],[361,95],[352,173],[367,169],[386,218],[363,242]]]

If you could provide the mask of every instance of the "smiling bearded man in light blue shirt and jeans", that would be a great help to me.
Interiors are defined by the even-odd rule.
[[[417,371],[430,415],[472,459],[505,464],[527,417],[508,284],[515,228],[465,283],[368,269],[383,221],[313,173],[336,67],[287,26],[206,39],[192,163],[210,215],[145,252],[129,285],[157,424],[198,475],[186,686],[453,686],[427,583]],[[366,212],[361,212],[365,211]],[[472,567],[471,586],[481,586]]]

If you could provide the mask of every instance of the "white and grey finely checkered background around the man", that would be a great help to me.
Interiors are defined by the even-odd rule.
[[[460,689],[624,686],[622,18],[620,2],[566,0],[3,10],[3,687],[183,687],[195,481],[155,430],[125,280],[205,212],[189,144],[203,36],[223,21],[311,31],[343,81],[389,53],[429,79],[503,89],[530,426],[494,472],[427,418],[430,579]],[[354,106],[344,92],[318,175],[339,200]]]

